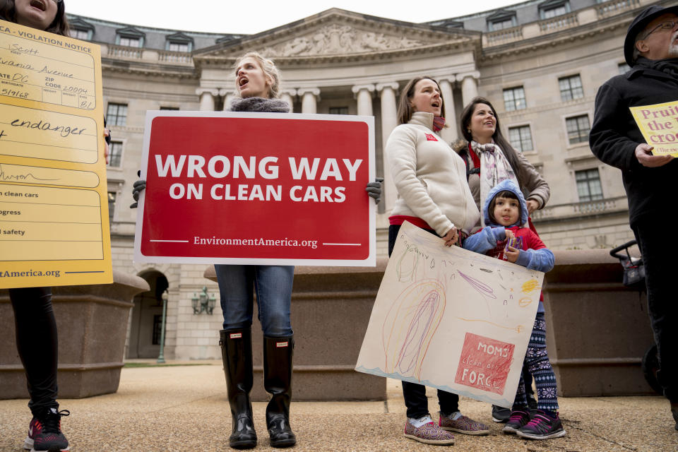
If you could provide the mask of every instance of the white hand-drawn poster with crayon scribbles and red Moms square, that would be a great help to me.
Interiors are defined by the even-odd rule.
[[[356,370],[510,408],[543,277],[405,222]]]

